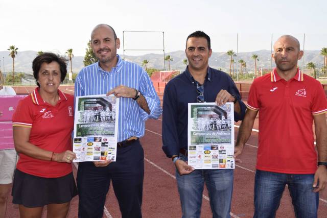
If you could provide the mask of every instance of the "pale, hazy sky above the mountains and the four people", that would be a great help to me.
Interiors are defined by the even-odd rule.
[[[10,45],[18,51],[73,49],[83,56],[90,32],[98,23],[111,25],[123,40],[123,31],[164,31],[166,52],[184,50],[186,37],[202,30],[212,39],[214,52],[270,50],[273,40],[291,34],[305,49],[327,47],[327,1],[63,1],[1,0],[0,51]],[[125,49],[162,49],[161,33],[126,33]],[[126,55],[146,52],[126,51]],[[123,44],[119,53],[123,53]],[[155,52],[155,53],[160,53]]]

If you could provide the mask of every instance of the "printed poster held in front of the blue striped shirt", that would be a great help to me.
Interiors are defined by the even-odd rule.
[[[76,97],[74,162],[116,160],[119,99],[113,94]]]

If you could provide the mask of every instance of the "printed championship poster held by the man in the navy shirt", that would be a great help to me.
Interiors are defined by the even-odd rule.
[[[189,103],[188,163],[195,169],[233,169],[234,105]]]

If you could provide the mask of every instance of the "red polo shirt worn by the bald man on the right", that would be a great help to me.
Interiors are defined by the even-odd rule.
[[[327,112],[319,81],[299,69],[285,81],[276,69],[255,79],[248,109],[259,110],[256,168],[287,174],[313,174],[317,169],[313,116]]]

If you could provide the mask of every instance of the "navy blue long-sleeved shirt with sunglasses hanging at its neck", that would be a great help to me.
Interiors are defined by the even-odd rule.
[[[179,155],[179,149],[188,148],[188,103],[196,103],[198,96],[197,82],[188,67],[185,71],[169,81],[165,87],[164,105],[162,107],[162,150],[167,157]],[[237,97],[241,113],[234,112],[234,120],[242,120],[246,106],[233,80],[223,71],[208,67],[203,83],[204,101],[215,102],[221,89]]]

